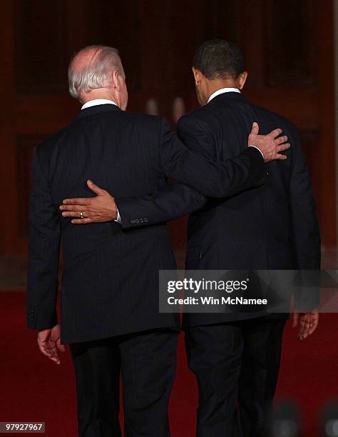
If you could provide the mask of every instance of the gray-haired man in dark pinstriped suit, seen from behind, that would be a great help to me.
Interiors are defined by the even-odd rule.
[[[170,176],[181,183],[168,187],[173,211],[188,214],[205,204],[205,196],[229,196],[262,184],[265,161],[285,159],[279,152],[288,148],[282,145],[287,139],[275,139],[280,129],[260,136],[255,126],[243,144],[250,147],[234,159],[214,162],[186,149],[164,119],[125,111],[128,91],[116,49],[86,47],[71,61],[68,75],[81,112],[34,150],[28,326],[39,330],[41,352],[57,364],[58,352],[70,345],[79,436],[121,436],[121,373],[125,436],[168,437],[180,321],[158,312],[158,271],[175,268],[166,225],[128,231],[114,220],[72,226],[58,205],[66,197],[93,196],[89,179],[122,197],[164,189]],[[86,211],[78,216],[86,218]],[[147,221],[135,218],[135,224]]]

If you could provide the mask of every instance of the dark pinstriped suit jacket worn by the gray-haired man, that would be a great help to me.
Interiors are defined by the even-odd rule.
[[[258,151],[215,163],[186,149],[164,119],[131,114],[110,104],[84,109],[34,151],[29,328],[51,328],[58,322],[61,239],[63,343],[179,328],[177,316],[158,313],[158,270],[175,268],[165,223],[130,230],[115,221],[72,225],[58,206],[65,198],[93,196],[87,179],[115,196],[142,196],[163,189],[166,176],[204,194],[225,196],[255,186],[264,175]],[[204,196],[187,186],[178,185],[177,193],[185,200],[187,213],[205,203]],[[147,221],[147,216],[138,216],[133,225]]]

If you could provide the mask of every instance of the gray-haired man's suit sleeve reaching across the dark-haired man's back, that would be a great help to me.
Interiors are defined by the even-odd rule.
[[[215,161],[203,153],[205,149],[215,149],[205,126],[196,121],[190,121],[189,126],[185,126],[180,121],[179,129],[181,132],[187,129],[193,132],[196,147],[186,147],[170,129],[168,121],[163,119],[160,163],[166,176],[200,191],[204,196],[219,198],[259,186],[264,181],[265,162],[255,147],[246,147],[233,159]]]

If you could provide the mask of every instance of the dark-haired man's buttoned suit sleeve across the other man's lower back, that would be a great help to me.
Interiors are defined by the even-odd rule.
[[[202,208],[207,199],[183,184],[165,184],[146,196],[115,199],[123,228],[150,225],[185,216]]]

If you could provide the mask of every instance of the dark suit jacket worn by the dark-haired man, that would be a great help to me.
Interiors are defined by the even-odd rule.
[[[230,92],[183,116],[178,133],[189,149],[217,162],[243,150],[253,121],[259,124],[260,134],[283,129],[291,144],[285,152],[287,160],[267,164],[265,184],[223,199],[209,198],[202,209],[190,214],[186,266],[196,270],[319,269],[314,197],[294,124]],[[170,204],[169,191],[155,194],[152,201],[118,199],[123,226],[132,226],[128,218],[135,214],[147,214],[149,223],[172,218],[165,209]],[[184,321],[195,326],[238,317],[234,313],[186,314]]]

